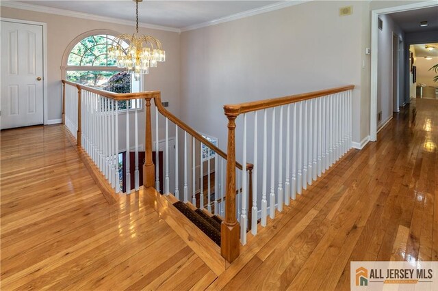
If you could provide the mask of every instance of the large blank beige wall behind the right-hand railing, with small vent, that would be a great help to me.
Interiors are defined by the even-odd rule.
[[[339,17],[346,5],[354,13]],[[361,2],[314,1],[183,32],[182,116],[224,141],[224,104],[354,84],[353,138],[359,141],[362,10]]]

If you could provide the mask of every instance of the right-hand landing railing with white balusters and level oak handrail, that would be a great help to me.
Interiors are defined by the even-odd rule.
[[[250,122],[254,132],[253,146],[250,147],[254,161],[251,201],[248,201],[246,195],[248,172],[244,171],[241,179],[237,176],[235,183],[237,193],[240,193],[239,183],[242,181],[242,195],[236,195],[236,204],[240,208],[236,212],[240,221],[242,245],[246,243],[249,227],[253,235],[257,234],[258,219],[261,219],[261,226],[266,226],[268,215],[274,219],[276,210],[281,212],[283,206],[289,205],[290,199],[296,199],[296,193],[302,194],[350,150],[353,88],[349,85],[309,94],[224,106],[225,115],[229,117],[229,128],[230,122],[231,128],[235,127],[234,120],[242,115],[243,125],[233,128],[233,133],[229,131],[228,154],[230,147],[235,151],[235,135],[242,137],[244,164],[249,150],[246,119],[248,113],[254,112],[251,115],[254,121]],[[263,113],[262,120],[259,120],[259,111]],[[257,126],[259,122],[263,124],[263,132],[260,134]],[[237,152],[240,153],[240,146],[237,146]],[[238,172],[227,171],[227,176]],[[235,195],[233,190],[227,192],[227,200],[229,195]],[[250,221],[247,215],[248,203],[252,204],[253,212]],[[258,209],[261,211],[258,212]],[[229,224],[234,225],[232,219]]]

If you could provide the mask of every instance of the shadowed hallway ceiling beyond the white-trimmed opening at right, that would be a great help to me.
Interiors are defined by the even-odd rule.
[[[389,14],[404,32],[438,30],[438,6]],[[420,27],[420,21],[428,26]]]

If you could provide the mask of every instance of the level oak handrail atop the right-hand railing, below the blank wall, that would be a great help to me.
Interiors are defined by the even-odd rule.
[[[268,109],[272,107],[277,107],[281,105],[287,105],[294,102],[300,102],[304,100],[309,100],[313,98],[318,98],[321,96],[326,96],[330,94],[335,94],[339,92],[348,91],[351,89],[354,89],[355,85],[346,85],[342,87],[336,87],[332,89],[324,89],[320,91],[315,92],[309,92],[304,94],[296,94],[291,96],[285,96],[285,97],[279,97],[279,98],[272,98],[272,99],[265,99],[265,100],[258,100],[253,102],[245,102],[240,104],[230,104],[230,105],[224,105],[224,112],[225,115],[240,115],[242,113],[248,113],[251,111],[257,111],[261,109]]]

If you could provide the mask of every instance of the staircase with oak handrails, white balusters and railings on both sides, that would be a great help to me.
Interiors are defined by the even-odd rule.
[[[158,91],[115,94],[65,80],[63,83],[63,122],[77,146],[90,157],[102,184],[109,192],[121,193],[119,154],[121,148],[133,149],[133,171],[129,158],[122,166],[127,194],[131,189],[148,193],[155,210],[179,230],[181,238],[216,275],[224,271],[226,261],[233,262],[240,255],[248,235],[254,239],[352,145],[354,85],[225,105],[225,153],[168,112]],[[119,114],[121,101],[129,102],[132,109]],[[151,117],[152,102],[155,122]],[[139,128],[138,109],[143,106],[145,124]],[[126,120],[126,128],[119,126],[120,118]],[[133,125],[129,124],[131,119]],[[164,124],[159,124],[160,120]],[[121,130],[123,135],[119,135]],[[140,130],[145,132],[142,145]],[[242,143],[236,144],[236,136]],[[160,165],[153,163],[153,151],[162,137],[166,146]],[[172,161],[169,137],[175,139]],[[207,154],[202,150],[205,147]],[[142,163],[138,162],[140,148],[145,152]],[[237,163],[236,153],[242,164]],[[155,161],[159,161],[158,150]],[[204,176],[205,172],[210,174]]]

